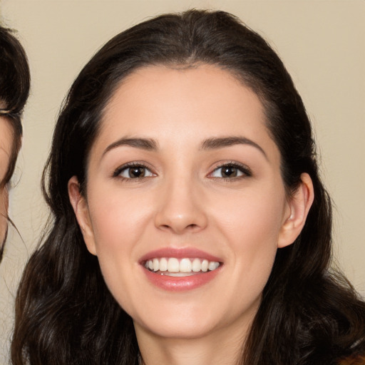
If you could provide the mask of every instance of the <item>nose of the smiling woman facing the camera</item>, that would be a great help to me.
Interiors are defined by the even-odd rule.
[[[155,214],[155,226],[177,235],[200,232],[207,226],[202,192],[192,180],[165,184],[160,192],[160,204]]]

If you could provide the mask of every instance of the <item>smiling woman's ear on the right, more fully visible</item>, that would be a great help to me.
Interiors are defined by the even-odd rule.
[[[278,247],[292,245],[304,227],[314,200],[312,179],[307,173],[300,176],[301,183],[288,200],[288,213],[279,232]]]

